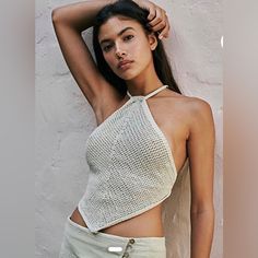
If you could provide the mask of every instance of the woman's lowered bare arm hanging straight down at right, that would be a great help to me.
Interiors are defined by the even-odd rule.
[[[210,105],[194,97],[188,138],[191,184],[191,255],[209,258],[214,231],[213,174],[215,129]]]

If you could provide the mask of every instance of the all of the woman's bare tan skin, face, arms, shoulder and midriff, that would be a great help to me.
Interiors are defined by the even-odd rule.
[[[161,32],[161,35],[167,37],[169,25],[165,11],[150,1],[139,0],[137,3],[150,11],[149,19],[150,24],[153,25],[153,32]],[[84,27],[82,25],[85,13],[87,12],[89,20],[84,21],[84,24],[87,22],[90,27],[90,20],[94,19],[104,5],[103,1],[75,3],[54,10],[52,13],[55,31],[63,57],[92,106],[97,125],[129,99],[127,95],[121,98],[105,81],[80,35],[80,32],[85,28],[85,25]],[[128,27],[131,28],[118,35]],[[162,85],[151,55],[157,44],[157,38],[153,33],[146,35],[138,22],[124,16],[114,16],[101,27],[98,40],[103,39],[108,39],[101,45],[104,58],[113,71],[126,81],[131,95],[146,95]],[[117,68],[118,62],[124,59],[133,60],[126,71]],[[211,107],[200,98],[183,96],[167,89],[148,98],[146,103],[169,143],[178,173],[186,157],[189,157],[191,258],[207,258],[211,249],[214,226],[214,122]],[[140,215],[104,228],[102,232],[128,237],[164,236],[161,206],[162,203]],[[82,226],[87,226],[78,209],[72,212],[71,220]]]

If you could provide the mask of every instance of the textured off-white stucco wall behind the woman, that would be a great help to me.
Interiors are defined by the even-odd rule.
[[[35,257],[58,257],[67,216],[75,209],[87,181],[85,141],[96,127],[93,110],[61,56],[51,10],[72,1],[36,1],[36,177]],[[75,1],[73,1],[75,2]],[[222,255],[222,1],[160,0],[169,15],[171,37],[164,40],[175,78],[185,95],[212,107],[216,127],[215,232],[212,258]],[[85,33],[91,44],[91,31]],[[91,48],[91,46],[90,46]],[[92,49],[92,48],[91,48]],[[187,258],[181,253],[178,258]],[[171,257],[169,257],[171,258]],[[177,258],[177,257],[173,257]]]

